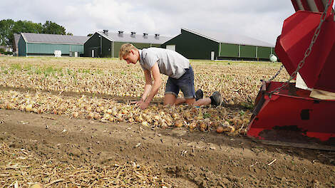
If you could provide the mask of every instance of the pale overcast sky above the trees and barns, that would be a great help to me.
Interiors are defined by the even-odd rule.
[[[11,0],[0,4],[0,19],[53,21],[76,36],[102,31],[135,31],[175,36],[180,28],[233,32],[275,44],[289,0]]]

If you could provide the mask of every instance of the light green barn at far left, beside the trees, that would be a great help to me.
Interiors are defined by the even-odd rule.
[[[19,39],[19,56],[54,56],[61,51],[61,56],[81,56],[83,44],[88,36],[68,36],[41,33],[21,33]]]

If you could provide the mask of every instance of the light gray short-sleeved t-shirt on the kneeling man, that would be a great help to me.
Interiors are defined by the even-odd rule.
[[[148,71],[158,63],[160,73],[178,79],[190,68],[190,61],[175,51],[164,48],[143,48],[140,51],[140,66]]]

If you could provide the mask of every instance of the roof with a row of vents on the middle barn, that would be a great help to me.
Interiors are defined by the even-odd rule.
[[[118,32],[107,32],[103,33],[102,31],[98,31],[101,36],[107,38],[110,41],[115,42],[125,42],[125,43],[155,43],[162,44],[166,41],[169,41],[172,37],[170,36],[155,36],[155,35],[144,35],[143,33],[118,33]]]

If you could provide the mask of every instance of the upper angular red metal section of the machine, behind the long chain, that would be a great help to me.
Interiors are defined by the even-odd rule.
[[[331,0],[331,3],[334,0]],[[297,11],[284,21],[282,35],[277,38],[275,51],[285,68],[291,75],[314,36],[319,26],[321,13]],[[326,21],[321,26],[319,36],[314,43],[311,54],[306,58],[304,67],[299,74],[309,88],[335,92],[335,22],[331,6],[326,15]],[[317,63],[316,63],[317,62]]]

